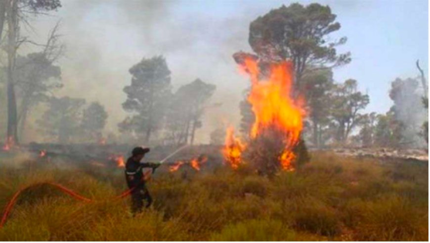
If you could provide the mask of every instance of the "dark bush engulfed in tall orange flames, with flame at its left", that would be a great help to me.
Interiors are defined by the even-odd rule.
[[[297,163],[305,162],[308,156],[301,141],[306,114],[304,100],[293,90],[293,64],[282,61],[265,63],[260,67],[254,55],[240,52],[233,57],[240,69],[251,78],[247,99],[252,106],[255,122],[247,145],[234,138],[230,129],[227,130],[224,148],[226,161],[236,169],[241,162],[241,153],[245,151],[247,161],[252,162],[261,173],[273,174],[280,168],[294,170]],[[300,148],[297,148],[299,144]],[[298,158],[298,152],[301,158]]]

